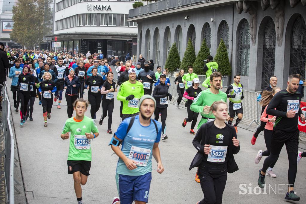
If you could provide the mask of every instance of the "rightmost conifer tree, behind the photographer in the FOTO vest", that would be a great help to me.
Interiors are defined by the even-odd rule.
[[[230,66],[229,56],[222,39],[219,43],[214,61],[218,63],[218,71],[221,72],[223,76],[230,77],[232,75],[232,67]]]

